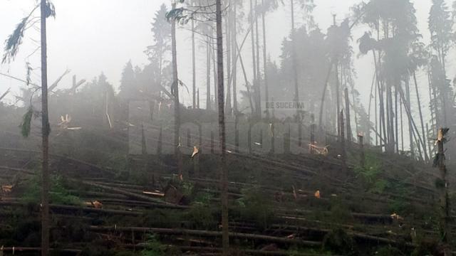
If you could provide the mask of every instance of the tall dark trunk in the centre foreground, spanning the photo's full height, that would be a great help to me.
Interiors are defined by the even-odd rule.
[[[217,21],[217,75],[219,80],[219,140],[222,149],[221,169],[221,201],[222,201],[222,247],[223,255],[229,255],[229,227],[228,227],[228,174],[225,166],[225,117],[224,117],[224,78],[223,78],[223,36],[222,36],[222,0],[216,1]]]

